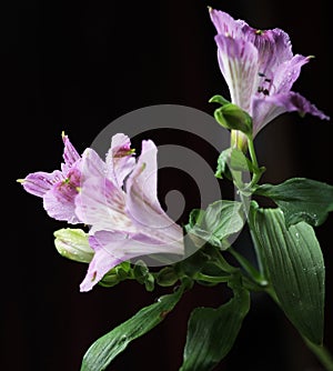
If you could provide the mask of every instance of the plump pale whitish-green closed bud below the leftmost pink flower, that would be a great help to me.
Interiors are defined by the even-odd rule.
[[[62,228],[54,233],[56,249],[70,260],[90,263],[94,251],[88,242],[88,233],[81,229]]]

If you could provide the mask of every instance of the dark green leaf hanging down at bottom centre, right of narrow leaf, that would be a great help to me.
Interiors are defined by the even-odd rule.
[[[240,289],[218,309],[195,308],[188,325],[180,371],[210,371],[229,353],[250,309],[249,291]]]

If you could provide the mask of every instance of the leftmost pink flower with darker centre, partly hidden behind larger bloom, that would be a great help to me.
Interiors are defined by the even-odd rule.
[[[80,187],[81,157],[67,136],[62,134],[62,140],[64,163],[61,163],[61,170],[33,172],[19,181],[27,192],[43,199],[43,207],[51,218],[75,224],[80,223],[74,199]]]

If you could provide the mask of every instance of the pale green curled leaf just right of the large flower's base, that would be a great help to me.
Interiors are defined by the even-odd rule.
[[[193,225],[193,221],[192,221]],[[242,230],[244,217],[242,203],[236,201],[216,201],[200,213],[196,223],[188,228],[189,235],[193,235],[194,243],[202,241],[220,249],[228,249],[228,238]],[[195,239],[196,238],[196,239]]]

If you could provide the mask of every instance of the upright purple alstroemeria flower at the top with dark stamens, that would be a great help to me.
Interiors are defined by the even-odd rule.
[[[301,67],[311,57],[294,56],[283,30],[256,30],[214,9],[210,9],[210,16],[218,31],[218,60],[231,101],[252,117],[253,136],[284,112],[330,119],[304,97],[291,91]]]

